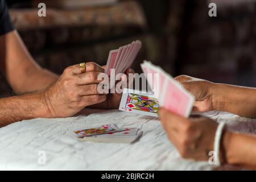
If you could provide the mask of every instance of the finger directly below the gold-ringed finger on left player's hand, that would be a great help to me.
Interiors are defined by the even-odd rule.
[[[99,84],[102,81],[100,78],[107,78],[105,73],[99,72],[85,72],[76,76],[78,85]]]

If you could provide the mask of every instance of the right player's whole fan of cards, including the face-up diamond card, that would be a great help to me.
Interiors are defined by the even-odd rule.
[[[153,95],[124,89],[119,110],[158,117],[159,105],[183,117],[188,117],[194,97],[162,68],[148,61],[141,64]]]

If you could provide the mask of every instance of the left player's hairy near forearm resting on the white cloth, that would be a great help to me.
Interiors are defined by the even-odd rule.
[[[0,99],[0,127],[40,117],[51,117],[43,92]]]

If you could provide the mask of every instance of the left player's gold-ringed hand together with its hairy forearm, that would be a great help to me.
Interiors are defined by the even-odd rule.
[[[107,94],[107,97],[98,93],[102,81],[98,75],[105,74],[104,68],[96,63],[85,65],[85,73],[81,73],[79,65],[66,68],[46,90],[1,98],[0,127],[23,119],[71,117],[84,107],[97,104],[102,109],[117,108],[121,94]]]

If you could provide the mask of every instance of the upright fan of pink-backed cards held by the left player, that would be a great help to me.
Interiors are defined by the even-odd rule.
[[[119,47],[119,49],[110,51],[105,73],[110,76],[111,69],[115,69],[116,75],[124,73],[133,64],[141,46],[141,41],[136,40],[126,46]]]

